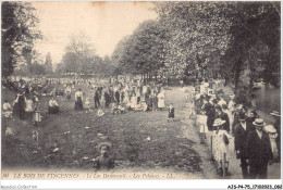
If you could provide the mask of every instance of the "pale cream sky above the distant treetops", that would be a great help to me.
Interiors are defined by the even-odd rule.
[[[86,34],[100,56],[111,56],[116,43],[146,20],[156,20],[151,2],[33,2],[45,36],[36,50],[45,58],[50,52],[61,62],[71,35]]]

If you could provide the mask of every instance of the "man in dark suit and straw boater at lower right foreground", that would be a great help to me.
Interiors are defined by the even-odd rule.
[[[253,124],[256,130],[248,134],[246,145],[249,178],[267,179],[268,164],[272,164],[273,159],[269,135],[263,131],[266,123],[262,118],[256,118]]]

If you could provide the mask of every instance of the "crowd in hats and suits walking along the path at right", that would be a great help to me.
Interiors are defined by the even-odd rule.
[[[189,118],[194,116],[192,107],[195,106],[200,143],[205,142],[206,136],[212,137],[213,160],[217,161],[218,174],[223,176],[229,175],[229,144],[234,140],[243,178],[264,179],[268,164],[280,161],[280,114],[270,113],[276,122],[267,125],[259,118],[255,106],[236,104],[235,96],[225,94],[220,87],[213,88],[205,80],[186,90],[188,115]]]

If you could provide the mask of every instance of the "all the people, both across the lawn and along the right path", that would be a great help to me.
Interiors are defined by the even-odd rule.
[[[168,110],[168,122],[174,121],[175,109],[171,103],[165,107],[164,84],[145,83],[143,79],[110,78],[106,83],[98,79],[84,78],[34,78],[29,80],[7,79],[4,88],[16,93],[12,105],[8,100],[3,103],[4,118],[17,115],[20,119],[28,119],[38,126],[41,122],[40,97],[50,97],[48,113],[59,114],[60,103],[57,96],[74,101],[75,111],[97,112],[103,116],[108,111],[123,114],[128,111],[150,112]],[[56,87],[54,87],[56,86]],[[50,89],[50,87],[52,87]],[[54,88],[53,88],[54,87]],[[212,137],[213,159],[218,164],[219,175],[229,174],[229,144],[234,140],[236,159],[241,161],[243,178],[267,178],[267,167],[273,155],[280,155],[280,114],[271,113],[276,123],[266,125],[259,118],[255,107],[236,104],[233,93],[225,94],[221,83],[196,83],[185,89],[187,116],[196,121],[199,127],[200,143]],[[85,91],[90,91],[87,97]],[[91,106],[94,105],[94,106]],[[4,126],[5,127],[5,126]],[[2,129],[4,128],[2,127]],[[5,130],[11,130],[7,129]],[[113,160],[109,159],[109,144],[99,148],[101,156],[95,160],[97,168],[113,168]],[[106,160],[103,160],[106,159]],[[280,159],[279,159],[280,161]]]

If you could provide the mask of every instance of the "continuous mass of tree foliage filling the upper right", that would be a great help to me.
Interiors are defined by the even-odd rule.
[[[221,77],[236,93],[259,80],[280,85],[280,2],[155,4],[159,18],[116,47],[120,73]]]

